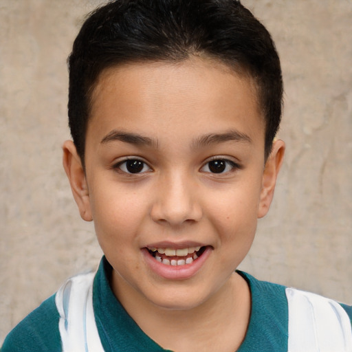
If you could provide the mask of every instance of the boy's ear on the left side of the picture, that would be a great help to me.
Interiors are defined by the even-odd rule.
[[[91,221],[91,206],[89,201],[89,190],[85,170],[77,153],[76,146],[72,140],[63,144],[63,168],[71,185],[74,200],[77,203],[80,217],[85,221]]]

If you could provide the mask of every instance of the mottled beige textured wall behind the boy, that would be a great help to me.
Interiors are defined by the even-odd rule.
[[[65,60],[93,0],[0,0],[0,343],[101,256],[61,166]],[[352,1],[243,0],[272,32],[287,142],[271,213],[241,268],[352,304]]]

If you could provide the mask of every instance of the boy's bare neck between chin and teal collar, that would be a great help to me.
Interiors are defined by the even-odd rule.
[[[133,288],[118,296],[124,309],[152,340],[175,352],[236,351],[250,320],[250,289],[239,274],[203,303],[190,309],[168,309],[141,299]],[[124,290],[123,290],[124,291]],[[126,299],[127,298],[127,299]]]

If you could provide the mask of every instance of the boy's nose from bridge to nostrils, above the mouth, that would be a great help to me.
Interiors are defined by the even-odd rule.
[[[197,192],[195,182],[180,173],[161,177],[151,208],[151,218],[171,226],[199,221],[203,212]]]

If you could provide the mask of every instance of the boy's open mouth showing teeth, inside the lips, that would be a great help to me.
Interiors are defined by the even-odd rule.
[[[206,246],[188,248],[147,248],[148,252],[159,263],[165,265],[189,265],[196,261],[206,250]]]

